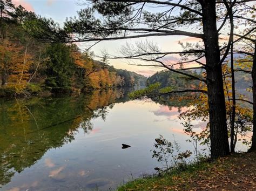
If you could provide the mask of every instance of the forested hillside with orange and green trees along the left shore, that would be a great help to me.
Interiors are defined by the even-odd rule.
[[[99,88],[145,86],[146,77],[93,60],[76,44],[42,43],[25,30],[35,13],[1,1],[0,96],[80,94]]]

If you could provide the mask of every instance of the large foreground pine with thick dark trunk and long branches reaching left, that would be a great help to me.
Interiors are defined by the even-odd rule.
[[[144,11],[145,5],[155,8],[166,7],[166,11]],[[211,131],[211,157],[227,155],[229,153],[226,125],[226,107],[223,90],[221,64],[225,59],[220,58],[219,30],[217,29],[217,15],[215,1],[186,1],[173,3],[170,1],[93,1],[92,8],[79,12],[79,18],[70,19],[65,23],[65,30],[69,33],[78,33],[75,42],[99,42],[101,40],[131,39],[149,36],[188,36],[203,39],[204,47],[190,49],[183,52],[160,52],[156,49],[144,49],[137,54],[130,54],[126,58],[137,58],[148,62],[156,62],[167,69],[188,76],[159,61],[166,55],[173,53],[196,54],[205,57],[206,64],[200,63],[206,69],[206,78],[190,77],[204,81],[207,84],[208,105]],[[179,9],[179,15],[173,16],[172,11]],[[104,21],[93,15],[98,11],[105,18]],[[81,24],[83,22],[85,24]],[[203,23],[203,29],[200,23]],[[139,23],[139,24],[137,24]],[[196,31],[180,30],[180,26],[194,25]],[[131,32],[131,33],[129,33]],[[141,34],[143,33],[143,34]],[[143,49],[140,49],[143,50]],[[144,56],[144,58],[142,58]],[[145,58],[149,56],[151,58]],[[154,59],[152,59],[154,57]],[[199,59],[199,58],[198,58]],[[196,59],[196,60],[198,60]],[[185,90],[184,90],[185,91]],[[188,90],[190,91],[190,90]],[[198,90],[200,91],[200,90]]]

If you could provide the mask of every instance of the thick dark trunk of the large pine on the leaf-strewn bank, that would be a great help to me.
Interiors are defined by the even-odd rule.
[[[203,11],[203,30],[210,115],[211,158],[230,153],[227,135],[226,106],[214,0],[199,1]]]

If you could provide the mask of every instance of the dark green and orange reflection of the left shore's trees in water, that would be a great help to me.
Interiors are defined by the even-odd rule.
[[[0,187],[41,159],[48,149],[71,142],[93,118],[105,120],[114,103],[127,100],[124,90],[95,91],[76,98],[33,98],[0,103]]]

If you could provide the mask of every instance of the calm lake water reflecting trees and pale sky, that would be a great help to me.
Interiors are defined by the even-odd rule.
[[[125,90],[2,100],[0,189],[107,190],[154,173],[161,165],[150,150],[159,134],[193,150],[178,115],[175,106],[128,100]]]

